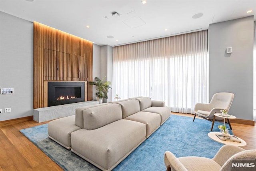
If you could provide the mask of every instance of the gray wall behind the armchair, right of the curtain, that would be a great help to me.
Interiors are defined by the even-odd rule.
[[[229,113],[247,120],[253,120],[253,22],[250,16],[209,26],[209,97],[234,93]]]

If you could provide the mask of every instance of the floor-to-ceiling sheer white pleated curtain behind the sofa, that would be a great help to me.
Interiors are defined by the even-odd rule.
[[[208,103],[207,30],[114,47],[113,97],[148,96],[174,112]]]

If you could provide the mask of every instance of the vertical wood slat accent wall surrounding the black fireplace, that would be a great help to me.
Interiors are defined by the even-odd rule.
[[[48,81],[85,82],[92,100],[93,43],[34,22],[34,109],[47,107]]]

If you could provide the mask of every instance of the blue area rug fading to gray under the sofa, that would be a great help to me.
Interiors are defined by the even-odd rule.
[[[204,119],[195,119],[193,122],[191,117],[171,115],[156,132],[116,166],[114,171],[164,171],[165,151],[171,151],[176,157],[212,158],[223,144],[208,137],[211,125],[210,121]],[[212,131],[219,131],[218,125],[223,125],[223,122],[215,122]],[[230,129],[228,124],[226,126]],[[66,171],[99,170],[48,138],[48,124],[22,129],[20,132]]]

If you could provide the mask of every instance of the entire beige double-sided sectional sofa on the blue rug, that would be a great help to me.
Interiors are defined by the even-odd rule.
[[[134,97],[76,109],[50,121],[51,139],[102,170],[112,170],[170,117],[163,101]]]

